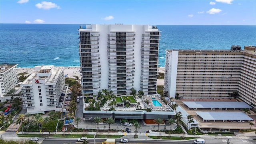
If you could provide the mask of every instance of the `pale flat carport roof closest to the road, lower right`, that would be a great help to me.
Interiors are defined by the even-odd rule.
[[[204,120],[253,120],[244,112],[196,112]]]

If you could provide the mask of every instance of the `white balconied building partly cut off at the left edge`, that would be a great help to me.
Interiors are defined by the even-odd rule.
[[[5,95],[19,82],[17,66],[18,64],[0,64],[0,102],[6,100]]]

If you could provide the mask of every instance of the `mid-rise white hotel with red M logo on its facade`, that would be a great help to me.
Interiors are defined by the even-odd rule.
[[[23,108],[28,113],[60,110],[60,95],[65,84],[64,67],[36,66],[20,86],[22,87]]]

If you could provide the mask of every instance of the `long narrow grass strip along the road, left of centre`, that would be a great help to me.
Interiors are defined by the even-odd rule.
[[[52,137],[52,138],[94,138],[93,134],[56,134],[56,135],[48,135],[48,134],[17,134],[19,137]],[[121,138],[123,135],[96,135],[96,138]]]

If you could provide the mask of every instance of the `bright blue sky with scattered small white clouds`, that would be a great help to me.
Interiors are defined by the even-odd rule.
[[[256,0],[0,0],[0,23],[256,25]]]

